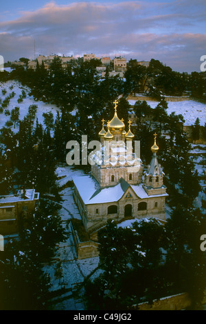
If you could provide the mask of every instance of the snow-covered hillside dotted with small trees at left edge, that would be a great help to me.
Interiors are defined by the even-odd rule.
[[[13,88],[10,88],[13,87]],[[2,90],[5,89],[6,93],[3,95]],[[22,103],[18,103],[19,96],[22,93],[22,90],[24,90],[27,94],[27,97],[23,99]],[[28,108],[30,105],[37,105],[37,112],[36,112],[36,117],[38,118],[38,122],[41,123],[44,127],[43,123],[43,112],[52,112],[54,115],[54,119],[56,119],[56,112],[60,109],[56,107],[56,105],[51,105],[49,103],[44,103],[43,101],[35,101],[33,96],[29,96],[30,93],[30,88],[27,86],[22,85],[18,81],[7,81],[7,82],[1,82],[0,83],[0,98],[3,101],[6,97],[9,96],[12,92],[15,92],[14,98],[10,99],[10,103],[8,105],[8,108],[5,108],[5,110],[11,110],[14,107],[19,107],[19,119],[23,120],[23,117],[28,113]],[[0,114],[0,129],[5,125],[6,121],[10,120],[10,116],[6,116],[5,113]],[[16,125],[16,128],[12,127],[13,132],[18,132],[19,131],[19,126]]]

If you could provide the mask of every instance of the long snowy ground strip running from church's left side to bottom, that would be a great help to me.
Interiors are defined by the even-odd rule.
[[[72,218],[81,219],[78,212],[78,207],[73,200],[73,187],[68,181],[71,181],[72,176],[82,175],[82,170],[76,170],[71,165],[59,165],[56,168],[56,174],[58,175],[58,183],[62,190],[60,195],[62,196],[62,208],[60,210],[60,216],[62,219],[62,225],[68,226],[69,238],[65,242],[61,242],[57,245],[56,255],[54,256],[54,263],[50,263],[44,266],[44,270],[49,274],[52,287],[50,291],[58,291],[62,287],[65,287],[67,292],[60,294],[54,305],[52,306],[55,310],[84,310],[84,303],[82,302],[81,292],[79,292],[78,299],[75,299],[76,287],[83,283],[84,279],[93,274],[93,278],[100,273],[100,270],[95,272],[98,267],[99,257],[78,260],[75,245],[73,242],[73,236],[71,235],[71,223],[65,222]],[[61,178],[61,179],[60,179]],[[62,277],[58,278],[55,274],[56,267],[60,263],[62,269]],[[74,294],[73,294],[74,293]],[[65,298],[64,301],[58,301],[61,298]]]

